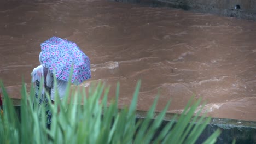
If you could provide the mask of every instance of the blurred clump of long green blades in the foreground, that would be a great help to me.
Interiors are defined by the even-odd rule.
[[[54,105],[50,104],[53,117],[49,130],[45,123],[46,116],[40,114],[45,111],[44,107],[32,105],[33,88],[30,94],[27,94],[23,85],[21,115],[18,116],[2,82],[1,86],[4,95],[4,113],[0,118],[0,143],[195,143],[210,122],[210,118],[198,117],[200,111],[192,118],[201,101],[191,105],[192,100],[190,100],[178,121],[169,122],[159,135],[154,137],[170,102],[158,116],[154,117],[156,98],[146,118],[136,122],[140,82],[136,86],[131,105],[121,110],[118,109],[117,103],[119,85],[115,100],[108,104],[109,88],[104,88],[104,85],[99,83],[96,87],[89,88],[87,95],[82,89],[73,92],[73,97],[69,101],[68,90],[65,99],[62,101],[56,99]],[[83,105],[80,105],[81,103]],[[154,118],[153,122],[152,118]],[[195,126],[190,124],[196,119],[199,124]],[[215,131],[205,143],[216,142],[219,134],[219,130]]]

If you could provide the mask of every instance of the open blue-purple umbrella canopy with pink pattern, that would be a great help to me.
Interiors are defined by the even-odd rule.
[[[91,78],[90,59],[72,41],[52,37],[41,44],[43,65],[57,79],[68,81],[73,65],[71,82],[79,85]]]

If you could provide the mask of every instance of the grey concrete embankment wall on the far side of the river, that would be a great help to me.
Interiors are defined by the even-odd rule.
[[[255,0],[110,0],[150,7],[171,7],[220,16],[256,20]]]

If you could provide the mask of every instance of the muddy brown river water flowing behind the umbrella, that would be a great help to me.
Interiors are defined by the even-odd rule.
[[[129,105],[142,80],[138,110],[180,113],[192,95],[208,116],[256,121],[256,22],[108,1],[1,2],[0,78],[20,98],[21,77],[39,65],[40,43],[75,41],[91,60],[92,82],[111,85]]]

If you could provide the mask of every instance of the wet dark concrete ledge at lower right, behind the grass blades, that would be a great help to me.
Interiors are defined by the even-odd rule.
[[[137,119],[144,119],[146,114],[146,111],[137,111]],[[166,113],[161,128],[170,121],[177,121],[177,119],[173,119],[174,115],[173,113]],[[193,124],[198,123],[195,122]],[[161,128],[156,133],[156,136],[161,131]],[[202,143],[217,129],[222,130],[222,134],[220,134],[216,142],[218,144],[232,143],[233,139],[236,139],[236,143],[256,143],[256,122],[225,118],[212,118],[196,143]]]

